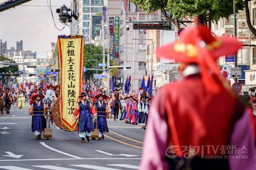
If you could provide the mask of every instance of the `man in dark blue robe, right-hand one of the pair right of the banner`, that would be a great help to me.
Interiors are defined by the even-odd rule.
[[[108,105],[106,104],[103,99],[106,99],[106,95],[97,95],[96,99],[98,99],[98,102],[95,104],[95,108],[97,109],[97,129],[99,129],[99,138],[104,139],[104,132],[108,132],[108,124],[107,124],[107,118],[105,117],[108,115]]]

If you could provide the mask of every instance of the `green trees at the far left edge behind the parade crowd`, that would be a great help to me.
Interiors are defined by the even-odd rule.
[[[12,60],[10,60],[9,58],[0,56],[0,61],[4,61],[4,60],[9,60],[9,61],[11,61],[11,63],[13,63]],[[0,68],[1,73],[6,73],[6,72],[11,73],[11,72],[17,72],[17,71],[18,71],[18,66],[14,66],[14,65],[10,65],[9,67]],[[3,88],[7,87],[10,77],[11,77],[11,75],[9,75],[9,74],[2,75],[1,82],[2,82]]]

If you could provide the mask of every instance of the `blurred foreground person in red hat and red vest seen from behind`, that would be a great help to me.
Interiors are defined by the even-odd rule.
[[[216,60],[242,43],[196,25],[157,56],[180,62],[183,78],[151,103],[140,170],[253,170],[249,112],[220,74]]]

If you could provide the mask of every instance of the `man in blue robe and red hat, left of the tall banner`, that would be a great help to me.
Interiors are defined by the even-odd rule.
[[[35,101],[30,107],[29,107],[29,114],[30,115],[44,115],[46,112],[46,105],[41,101],[41,99],[44,98],[44,95],[34,95],[32,97],[32,101]],[[41,112],[37,112],[41,111]],[[46,128],[46,119],[44,116],[32,116],[32,132],[35,133],[36,138],[35,139],[41,139],[41,133],[44,131],[44,128]]]

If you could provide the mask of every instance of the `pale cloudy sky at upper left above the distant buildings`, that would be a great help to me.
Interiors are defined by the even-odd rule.
[[[0,0],[0,3],[5,1]],[[51,0],[52,14],[59,29],[64,25],[58,20],[56,9],[64,4],[70,6],[70,0]],[[31,0],[21,5],[29,6],[16,6],[0,12],[0,39],[7,41],[8,49],[15,47],[16,41],[23,40],[24,50],[37,52],[37,58],[46,58],[51,42],[56,43],[58,35],[70,35],[70,27],[66,26],[62,31],[55,28],[47,0]]]

